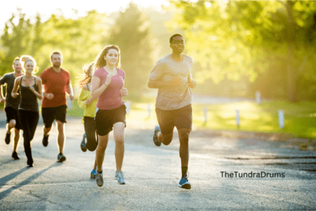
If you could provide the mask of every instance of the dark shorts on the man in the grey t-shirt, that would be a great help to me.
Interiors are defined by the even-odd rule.
[[[162,134],[173,133],[173,128],[192,129],[191,104],[176,110],[162,110],[156,108],[157,120]]]

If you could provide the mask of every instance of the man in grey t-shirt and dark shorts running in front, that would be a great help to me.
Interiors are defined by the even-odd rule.
[[[173,34],[170,39],[172,53],[159,59],[148,80],[148,87],[158,89],[156,115],[159,126],[154,127],[154,144],[169,145],[173,128],[177,127],[180,141],[182,176],[178,186],[190,189],[187,166],[189,162],[189,134],[192,129],[192,91],[196,83],[192,80],[193,60],[183,54],[185,40],[181,34]]]

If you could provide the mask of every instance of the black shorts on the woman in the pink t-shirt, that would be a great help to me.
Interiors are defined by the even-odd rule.
[[[117,122],[124,122],[126,127],[126,106],[124,104],[111,110],[99,109],[96,113],[97,134],[99,136],[109,134],[113,129],[113,124]]]

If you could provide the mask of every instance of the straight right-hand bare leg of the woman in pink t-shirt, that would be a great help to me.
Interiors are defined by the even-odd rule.
[[[117,122],[113,124],[117,172],[121,170],[124,160],[124,127],[124,122]]]

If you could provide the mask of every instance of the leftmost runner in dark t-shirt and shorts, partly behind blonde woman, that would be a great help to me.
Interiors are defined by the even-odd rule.
[[[14,81],[16,77],[22,75],[22,67],[20,63],[20,58],[16,57],[13,60],[12,68],[14,72],[6,73],[4,77],[0,79],[1,86],[1,103],[5,103],[5,111],[6,111],[6,144],[10,143],[11,139],[11,129],[14,127],[14,144],[13,144],[13,153],[12,158],[14,160],[19,160],[18,153],[16,153],[16,149],[18,148],[18,143],[20,139],[20,129],[22,129],[19,118],[18,118],[18,107],[20,104],[20,96],[17,98],[13,98],[11,96],[11,91],[13,90]],[[3,96],[2,86],[6,84],[6,98]]]

